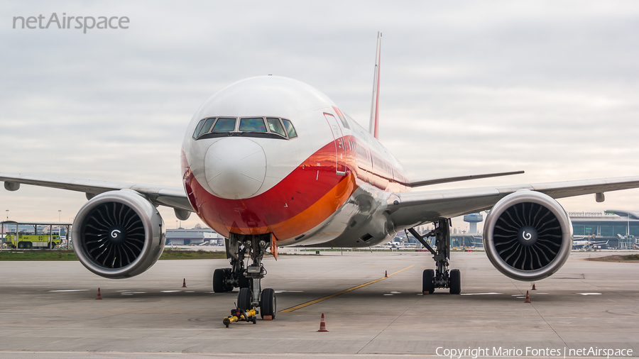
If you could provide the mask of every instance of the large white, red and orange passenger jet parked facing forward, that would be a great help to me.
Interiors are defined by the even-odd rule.
[[[0,173],[4,187],[20,184],[85,192],[73,223],[74,250],[87,269],[108,278],[139,275],[165,245],[156,206],[192,212],[226,237],[230,267],[215,270],[215,292],[239,287],[238,306],[276,313],[275,292],[262,289],[263,255],[285,245],[368,247],[407,230],[433,254],[422,291],[461,292],[449,270],[449,219],[491,209],[484,226],[486,255],[515,280],[549,277],[572,248],[572,223],[557,198],[639,187],[639,177],[418,190],[430,184],[519,172],[409,180],[378,141],[378,34],[368,131],[322,92],[285,77],[263,76],[221,89],[197,109],[182,145],[184,188]],[[435,223],[421,236],[414,227]],[[435,248],[424,240],[435,237]],[[245,264],[246,263],[246,264]]]

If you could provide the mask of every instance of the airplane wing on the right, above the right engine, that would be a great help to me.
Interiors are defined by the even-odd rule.
[[[519,189],[543,192],[557,199],[638,187],[639,177],[618,177],[503,187],[402,192],[395,193],[388,199],[388,213],[396,228],[408,228],[437,219],[491,209],[497,201]]]

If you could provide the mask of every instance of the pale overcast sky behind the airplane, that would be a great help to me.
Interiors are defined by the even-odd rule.
[[[130,23],[12,28],[14,16],[51,13]],[[637,1],[3,1],[0,172],[181,186],[198,106],[263,74],[320,89],[367,127],[377,31],[381,142],[411,179],[526,171],[439,189],[639,175]],[[61,209],[69,221],[84,202],[0,191],[13,220],[57,221]],[[173,210],[160,213],[175,228]]]

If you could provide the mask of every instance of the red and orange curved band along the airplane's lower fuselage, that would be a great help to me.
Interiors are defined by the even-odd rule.
[[[393,180],[388,162],[373,158],[372,151],[354,136],[339,140],[348,143],[346,175],[336,173],[336,140],[317,150],[271,189],[247,199],[223,199],[209,193],[192,175],[182,155],[185,190],[198,216],[223,236],[229,232],[273,233],[281,240],[295,238],[325,221],[362,182],[382,191],[405,190]]]

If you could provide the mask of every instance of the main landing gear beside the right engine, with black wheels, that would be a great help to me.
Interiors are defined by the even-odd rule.
[[[408,231],[417,241],[420,241],[427,250],[432,253],[432,259],[435,260],[437,270],[427,269],[422,274],[422,292],[423,294],[431,294],[435,292],[435,288],[449,288],[450,294],[461,293],[461,272],[459,270],[448,269],[448,259],[450,258],[450,226],[449,219],[440,219],[435,222],[435,229],[420,236],[415,228]],[[435,237],[435,248],[433,249],[424,240],[425,237]]]

